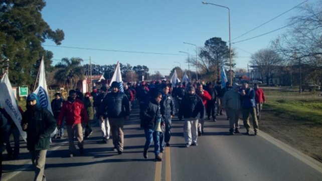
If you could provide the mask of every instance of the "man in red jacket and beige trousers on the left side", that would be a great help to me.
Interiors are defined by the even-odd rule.
[[[57,119],[57,126],[60,127],[64,117],[66,117],[66,127],[69,141],[70,157],[75,155],[74,134],[78,140],[79,152],[84,153],[83,128],[82,123],[88,123],[88,116],[83,102],[76,99],[75,90],[69,91],[69,97],[64,102]]]

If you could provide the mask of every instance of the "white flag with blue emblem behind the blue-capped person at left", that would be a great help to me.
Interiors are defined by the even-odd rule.
[[[34,93],[37,94],[40,105],[42,107],[48,109],[49,112],[51,112],[53,114],[52,106],[51,106],[48,91],[47,91],[44,57],[42,58],[42,60],[40,62],[38,87],[34,91]],[[53,137],[53,136],[55,136],[56,133],[57,133],[57,127],[50,136]]]

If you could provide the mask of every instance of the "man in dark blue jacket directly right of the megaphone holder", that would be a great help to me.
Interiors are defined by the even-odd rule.
[[[165,151],[165,143],[166,146],[170,146],[170,138],[171,138],[171,124],[172,118],[175,115],[175,102],[172,96],[169,94],[170,87],[169,85],[162,86],[162,100],[160,102],[161,107],[161,115],[166,124],[165,136],[164,139],[161,139],[161,152]]]

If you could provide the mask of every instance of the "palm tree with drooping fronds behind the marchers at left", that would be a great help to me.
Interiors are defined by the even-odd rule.
[[[79,80],[84,79],[84,69],[81,66],[81,58],[63,58],[60,63],[55,67],[59,70],[55,74],[57,83],[67,87],[67,89],[73,89],[76,87]]]

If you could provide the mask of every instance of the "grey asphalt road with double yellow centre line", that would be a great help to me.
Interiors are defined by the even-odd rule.
[[[218,116],[217,122],[207,120],[205,125],[205,134],[198,138],[199,145],[186,148],[183,122],[174,119],[171,146],[163,153],[163,161],[156,162],[152,147],[148,159],[143,158],[145,138],[139,128],[138,110],[133,109],[130,121],[124,126],[123,154],[113,151],[112,140],[101,143],[98,126],[93,127],[93,134],[85,140],[83,155],[68,157],[67,139],[54,140],[47,153],[47,181],[322,180],[320,164],[315,165],[305,156],[268,141],[264,133],[231,136],[224,115]],[[243,128],[240,130],[245,132]],[[3,165],[3,180],[33,179],[34,172],[26,151],[19,160],[4,161]]]

